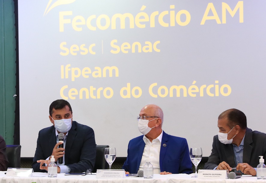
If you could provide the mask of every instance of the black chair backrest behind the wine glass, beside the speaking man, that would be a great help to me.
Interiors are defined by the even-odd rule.
[[[108,145],[96,145],[96,159],[92,173],[96,173],[97,169],[109,169],[109,165],[104,157],[104,148]]]

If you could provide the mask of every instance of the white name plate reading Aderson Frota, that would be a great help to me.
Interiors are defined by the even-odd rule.
[[[126,178],[125,170],[108,170],[108,169],[98,169],[96,172],[96,178],[99,179],[123,179]]]

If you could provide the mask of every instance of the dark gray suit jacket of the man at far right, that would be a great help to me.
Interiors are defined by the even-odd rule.
[[[208,162],[205,163],[204,169],[214,169],[223,161],[228,163],[230,167],[236,167],[234,156],[233,145],[221,143],[218,135],[215,135],[211,155]],[[266,159],[266,134],[247,128],[244,139],[243,163],[256,168],[259,164],[259,156]]]

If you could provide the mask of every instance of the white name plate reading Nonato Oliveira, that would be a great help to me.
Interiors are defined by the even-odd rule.
[[[228,170],[199,170],[198,179],[227,179]]]

